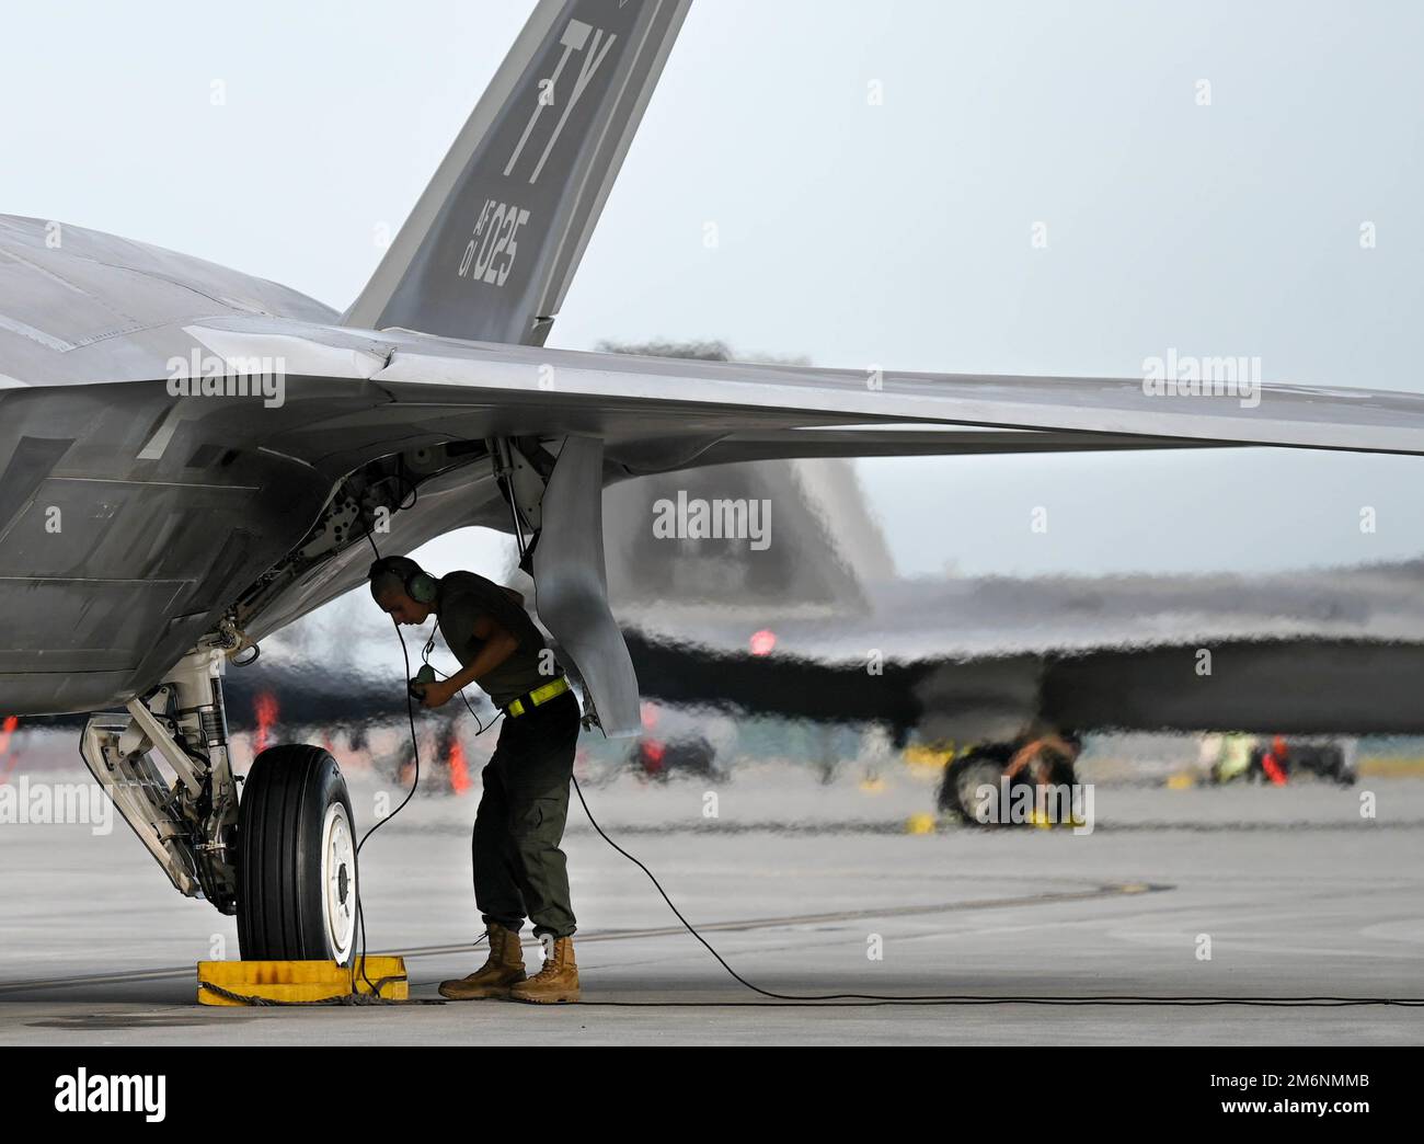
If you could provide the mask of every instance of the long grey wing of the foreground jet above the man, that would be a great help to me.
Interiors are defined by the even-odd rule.
[[[413,435],[594,436],[628,474],[807,456],[1223,444],[1424,452],[1424,396],[1387,390],[1260,385],[1250,399],[1193,396],[1156,393],[1139,379],[638,358],[261,316],[191,323],[184,335],[228,359],[282,359],[303,415],[295,425],[266,417],[271,444],[313,463],[370,443],[376,426],[387,446]],[[366,400],[353,407],[350,392],[333,388],[323,415],[323,382],[343,379],[367,382]]]

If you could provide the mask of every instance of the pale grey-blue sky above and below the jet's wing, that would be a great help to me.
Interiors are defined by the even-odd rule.
[[[531,7],[9,10],[0,211],[345,308]],[[1421,43],[1413,3],[695,0],[551,343],[1124,376],[1176,348],[1259,356],[1267,380],[1424,389]],[[903,571],[1052,573],[1415,556],[1420,466],[860,470]]]

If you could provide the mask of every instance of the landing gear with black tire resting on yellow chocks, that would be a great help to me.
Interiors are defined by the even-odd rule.
[[[356,829],[346,779],[320,748],[263,751],[242,791],[222,707],[234,631],[202,640],[168,678],[98,715],[80,754],[174,886],[238,916],[244,960],[333,960],[356,946]]]

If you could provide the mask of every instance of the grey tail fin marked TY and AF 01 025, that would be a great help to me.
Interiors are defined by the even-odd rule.
[[[543,345],[691,0],[541,0],[342,325]]]

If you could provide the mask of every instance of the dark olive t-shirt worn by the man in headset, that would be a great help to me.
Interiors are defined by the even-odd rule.
[[[545,647],[543,633],[534,627],[524,608],[493,580],[470,571],[440,577],[436,615],[440,635],[461,667],[473,664],[484,647],[484,640],[474,634],[474,623],[481,615],[488,615],[520,641],[508,660],[476,680],[498,707],[507,707],[520,695],[553,682],[562,674],[553,657],[543,657],[553,672],[540,672],[540,652]]]

